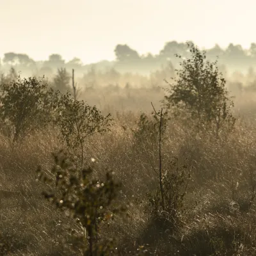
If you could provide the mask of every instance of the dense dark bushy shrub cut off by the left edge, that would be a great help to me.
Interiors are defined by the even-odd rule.
[[[10,130],[13,142],[51,121],[54,92],[36,77],[13,80],[0,85],[0,116]]]

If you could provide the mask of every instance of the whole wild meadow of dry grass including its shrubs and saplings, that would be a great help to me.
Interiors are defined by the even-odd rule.
[[[0,255],[256,255],[256,93],[187,47],[151,87],[2,77]]]

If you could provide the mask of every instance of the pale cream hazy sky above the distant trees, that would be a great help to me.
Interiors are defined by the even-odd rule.
[[[140,54],[156,54],[171,40],[249,47],[255,10],[255,0],[0,0],[0,56],[59,53],[90,63],[113,60],[116,44]]]

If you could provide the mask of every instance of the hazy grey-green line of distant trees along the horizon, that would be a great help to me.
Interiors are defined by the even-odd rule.
[[[115,61],[100,61],[94,63],[96,70],[106,70],[115,68],[119,72],[150,72],[159,69],[168,63],[177,65],[175,54],[184,58],[189,58],[189,52],[186,43],[176,41],[167,42],[158,54],[151,53],[139,54],[136,50],[131,49],[127,44],[118,44],[115,47]],[[243,49],[241,45],[229,44],[226,49],[222,49],[216,44],[211,49],[206,49],[207,58],[215,60],[216,56],[220,57],[219,63],[227,65],[233,70],[244,70],[253,67],[256,64],[256,43],[252,43],[249,49]],[[33,72],[33,74],[51,76],[58,68],[76,69],[78,73],[83,73],[92,68],[91,65],[83,65],[79,58],[70,61],[63,60],[60,54],[51,54],[48,60],[35,61],[28,54],[15,52],[6,52],[3,60],[0,62],[1,70],[10,70],[15,67],[22,73]]]

